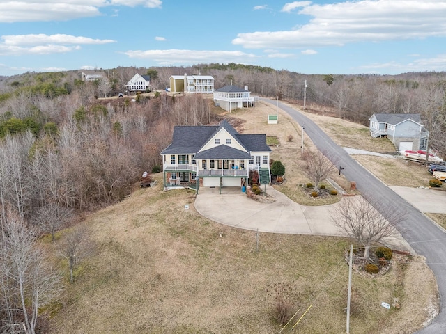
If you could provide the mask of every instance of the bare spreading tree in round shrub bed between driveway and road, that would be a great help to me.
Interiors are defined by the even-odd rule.
[[[332,221],[351,238],[364,246],[364,258],[369,258],[370,246],[397,234],[396,226],[404,214],[385,203],[378,203],[380,214],[360,196],[343,198],[335,207]],[[385,218],[385,217],[386,218]]]

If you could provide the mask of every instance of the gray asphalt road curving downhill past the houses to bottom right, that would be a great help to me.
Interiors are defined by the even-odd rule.
[[[265,102],[276,104],[275,100],[261,98]],[[363,168],[339,145],[334,143],[312,120],[299,113],[295,109],[279,102],[279,108],[288,113],[298,124],[304,127],[305,136],[308,136],[314,145],[328,154],[332,163],[341,170],[343,175],[350,181],[356,182],[356,188],[362,196],[369,201],[378,211],[380,203],[392,203],[395,209],[406,214],[404,221],[399,225],[399,232],[408,244],[419,255],[426,257],[426,263],[435,273],[440,290],[440,313],[426,328],[418,331],[420,334],[446,333],[446,310],[443,308],[443,300],[446,296],[446,234],[433,224],[418,209],[403,200],[392,189],[385,186],[368,170]],[[280,120],[279,120],[280,121]],[[304,147],[305,147],[304,136]],[[446,205],[446,203],[445,203]],[[382,212],[384,214],[384,212]],[[423,284],[420,282],[420,284]],[[416,310],[414,310],[416,312]]]

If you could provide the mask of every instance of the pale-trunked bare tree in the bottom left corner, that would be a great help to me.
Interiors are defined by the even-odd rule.
[[[37,230],[8,209],[2,221],[0,239],[0,284],[3,328],[22,323],[26,333],[35,334],[38,310],[61,289],[61,276],[49,267],[36,243]],[[9,332],[8,332],[9,333]]]

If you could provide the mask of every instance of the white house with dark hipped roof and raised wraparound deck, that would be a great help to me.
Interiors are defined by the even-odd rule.
[[[213,98],[216,106],[229,112],[244,106],[254,106],[254,97],[251,97],[247,86],[245,89],[232,85],[218,88],[214,90]]]

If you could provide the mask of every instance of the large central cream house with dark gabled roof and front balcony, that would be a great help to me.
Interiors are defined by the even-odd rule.
[[[249,170],[270,183],[270,147],[265,134],[239,134],[229,122],[176,126],[172,143],[161,152],[164,189],[226,187],[243,189]]]

